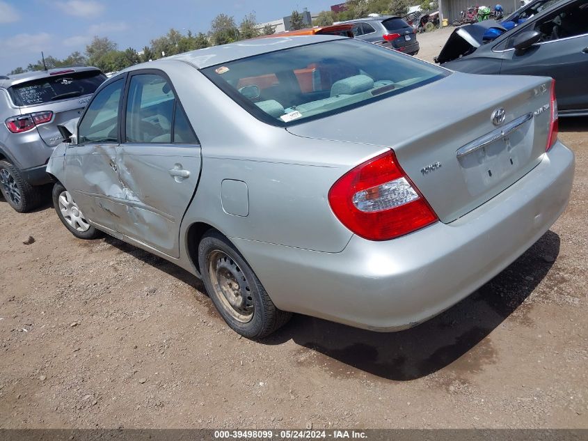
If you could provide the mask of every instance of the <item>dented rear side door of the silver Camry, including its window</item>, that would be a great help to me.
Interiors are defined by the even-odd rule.
[[[150,71],[153,72],[153,71]],[[200,176],[200,145],[167,77],[133,73],[117,168],[125,192],[120,232],[180,256],[180,224]]]

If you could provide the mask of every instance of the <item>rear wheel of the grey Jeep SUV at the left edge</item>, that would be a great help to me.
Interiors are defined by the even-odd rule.
[[[10,162],[0,161],[0,191],[2,196],[19,213],[34,210],[41,205],[41,192],[22,178],[20,170]]]

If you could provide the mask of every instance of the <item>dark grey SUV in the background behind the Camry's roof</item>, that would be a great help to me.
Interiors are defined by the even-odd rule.
[[[414,29],[396,15],[349,20],[353,24],[353,36],[376,45],[395,49],[408,55],[416,55],[420,49]]]

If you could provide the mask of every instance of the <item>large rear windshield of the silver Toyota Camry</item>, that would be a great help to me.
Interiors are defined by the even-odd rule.
[[[269,52],[202,72],[253,116],[281,126],[338,114],[449,75],[351,38]]]

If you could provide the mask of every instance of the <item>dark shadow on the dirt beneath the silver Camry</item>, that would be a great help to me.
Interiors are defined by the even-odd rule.
[[[177,265],[110,236],[105,240],[205,295],[202,281]],[[293,340],[301,351],[323,355],[313,363],[326,364],[330,371],[341,375],[358,370],[388,380],[414,380],[443,369],[472,350],[476,351],[461,369],[476,370],[493,361],[493,349],[486,336],[506,318],[518,310],[515,320],[532,323],[527,317],[531,307],[525,307],[523,302],[546,277],[558,254],[559,236],[548,231],[475,293],[410,330],[370,332],[296,314],[285,327],[260,343],[278,345]],[[206,304],[214,309],[209,300]],[[222,320],[218,313],[214,316]],[[308,359],[304,354],[301,358]]]

